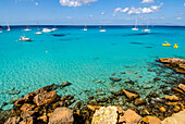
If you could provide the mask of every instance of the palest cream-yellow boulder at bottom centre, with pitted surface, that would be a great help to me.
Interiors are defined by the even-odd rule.
[[[101,107],[99,110],[96,110],[91,124],[116,124],[116,107]]]

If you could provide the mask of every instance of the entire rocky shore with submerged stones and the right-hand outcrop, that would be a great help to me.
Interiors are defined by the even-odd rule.
[[[185,116],[185,76],[181,74],[174,78],[175,73],[162,74],[163,69],[169,66],[173,71],[180,67],[182,73],[184,63],[182,60],[176,60],[178,59],[168,61],[161,59],[159,62],[163,64],[152,63],[161,70],[148,69],[148,72],[157,74],[150,84],[139,85],[136,80],[122,79],[116,73],[112,73],[109,77],[112,87],[108,87],[110,95],[104,96],[104,91],[101,89],[96,89],[96,95],[90,95],[90,90],[84,90],[85,94],[88,94],[85,101],[76,99],[72,95],[58,95],[59,90],[71,85],[70,82],[52,84],[24,97],[14,97],[10,100],[10,103],[14,103],[12,110],[0,110],[0,124],[171,124],[169,121],[184,124],[182,116]],[[166,64],[168,62],[169,64]],[[174,62],[177,63],[174,64]],[[136,75],[137,72],[120,72],[120,75],[125,74]],[[165,76],[166,80],[161,80],[161,76],[159,76],[161,74]],[[161,82],[165,82],[165,84],[159,84]],[[95,83],[102,84],[97,79]],[[157,87],[152,88],[151,84]],[[120,86],[118,91],[114,90],[116,85]],[[159,89],[157,89],[158,87]],[[147,92],[148,89],[153,90]],[[20,90],[13,88],[9,90],[9,94],[16,95],[20,94]],[[146,97],[144,98],[143,95]],[[7,104],[3,103],[1,108]]]

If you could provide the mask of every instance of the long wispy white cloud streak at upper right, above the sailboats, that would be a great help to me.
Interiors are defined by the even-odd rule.
[[[114,10],[114,14],[116,14],[118,12],[127,12],[127,14],[153,13],[158,11],[162,5],[163,3],[161,2],[159,5],[151,5],[149,8],[135,8],[135,7],[125,9],[116,8]]]

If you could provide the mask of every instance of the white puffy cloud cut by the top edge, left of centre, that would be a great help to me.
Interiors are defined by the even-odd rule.
[[[81,7],[96,1],[98,0],[60,0],[60,4],[64,7]]]

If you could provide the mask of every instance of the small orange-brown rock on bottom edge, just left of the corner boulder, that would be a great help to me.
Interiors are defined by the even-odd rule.
[[[147,124],[161,124],[161,120],[159,120],[157,116],[146,116],[141,119],[143,122]]]

